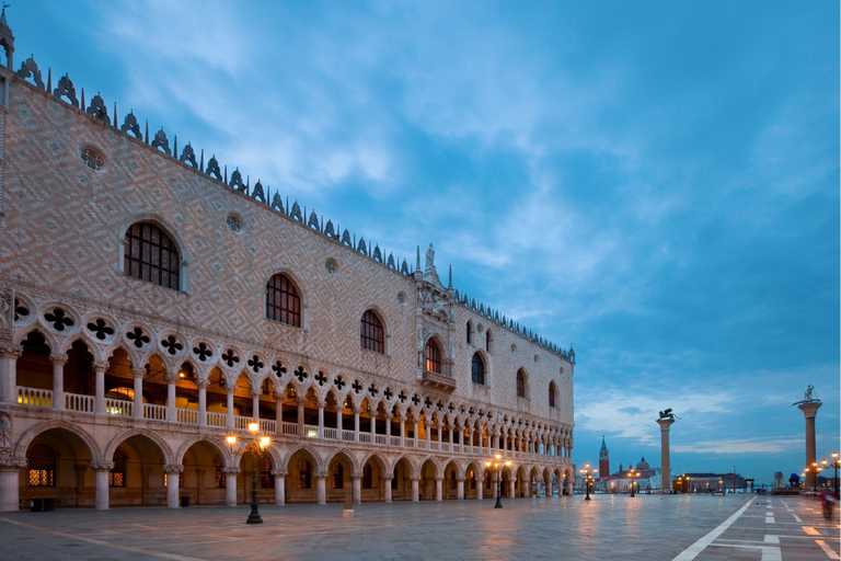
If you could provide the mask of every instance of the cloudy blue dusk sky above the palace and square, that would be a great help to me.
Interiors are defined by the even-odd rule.
[[[839,449],[839,4],[11,1],[34,55],[574,344],[576,463]]]

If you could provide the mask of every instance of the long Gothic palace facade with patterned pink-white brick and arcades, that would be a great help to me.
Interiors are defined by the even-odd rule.
[[[572,490],[572,350],[0,46],[0,511]]]

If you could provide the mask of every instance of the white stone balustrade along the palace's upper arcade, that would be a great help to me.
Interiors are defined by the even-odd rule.
[[[20,405],[32,408],[53,408],[53,391],[37,388],[25,388],[18,386],[18,403]],[[77,411],[80,413],[95,412],[95,398],[93,396],[84,396],[79,393],[65,393],[65,409],[68,411]],[[166,422],[169,416],[169,409],[166,405],[158,405],[153,403],[142,404],[142,416],[145,420]],[[114,416],[131,417],[134,415],[135,402],[117,399],[105,399],[105,413]],[[194,409],[175,409],[175,423],[183,425],[198,425],[198,411]],[[218,427],[224,430],[228,426],[227,413],[206,413],[206,424],[211,427]],[[252,417],[234,415],[233,426],[234,430],[247,431],[249,423],[252,422]],[[268,434],[280,434],[284,436],[299,436],[298,423],[281,422],[278,423],[270,419],[258,420],[260,430]],[[494,448],[471,446],[470,444],[457,444],[446,443],[438,440],[426,440],[426,438],[418,438],[417,445],[415,445],[414,437],[402,436],[388,436],[384,434],[371,434],[370,432],[359,432],[358,439],[356,437],[356,431],[338,430],[335,427],[324,426],[319,431],[318,425],[303,425],[303,433],[300,436],[308,438],[320,438],[327,440],[343,440],[343,442],[359,442],[365,444],[375,444],[377,446],[391,446],[391,447],[405,447],[405,448],[418,448],[440,451],[463,453],[476,456],[489,456],[495,451]],[[339,438],[341,437],[341,438]],[[568,463],[569,459],[562,456],[542,455],[538,453],[521,451],[521,450],[504,450],[504,454],[511,459],[530,459],[534,457],[542,457],[550,459],[551,461],[560,463]]]

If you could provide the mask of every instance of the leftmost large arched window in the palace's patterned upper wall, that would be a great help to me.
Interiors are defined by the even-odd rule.
[[[128,276],[178,289],[178,248],[155,225],[131,225],[126,231],[124,257]]]

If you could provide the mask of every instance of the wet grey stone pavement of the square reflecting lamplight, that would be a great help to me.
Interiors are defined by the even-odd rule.
[[[838,512],[753,495],[580,495],[341,505],[59,510],[0,515],[2,560],[839,559]]]

